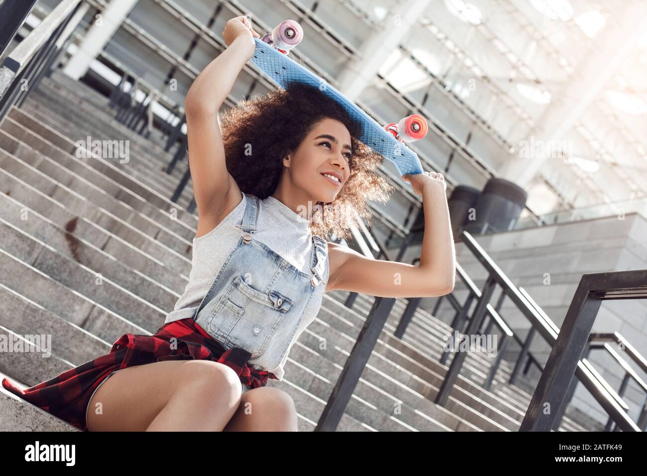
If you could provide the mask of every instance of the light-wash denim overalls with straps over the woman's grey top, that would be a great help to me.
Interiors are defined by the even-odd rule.
[[[247,350],[248,365],[271,372],[289,351],[308,305],[315,314],[320,308],[328,249],[313,235],[312,274],[303,273],[253,238],[259,199],[251,194],[245,199],[243,220],[236,225],[241,238],[193,312],[193,322],[226,349]]]

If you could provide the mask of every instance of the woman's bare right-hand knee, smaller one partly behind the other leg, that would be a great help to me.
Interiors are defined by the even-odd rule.
[[[243,393],[241,403],[223,431],[297,431],[291,396],[272,387]]]

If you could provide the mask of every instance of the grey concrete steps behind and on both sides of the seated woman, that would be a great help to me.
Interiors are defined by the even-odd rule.
[[[0,124],[0,334],[50,334],[52,355],[0,353],[0,372],[22,385],[49,380],[109,352],[127,332],[152,334],[184,291],[197,216],[169,200],[184,172],[163,172],[172,154],[125,128],[93,89],[55,72]],[[129,140],[130,160],[76,157],[76,141]],[[317,319],[291,350],[283,381],[312,431],[372,298],[353,309],[347,292],[323,297]],[[450,328],[418,310],[393,337],[406,306],[397,300],[340,431],[516,431],[531,396],[508,385],[503,362],[491,392],[490,361],[470,354],[446,404],[433,403],[447,366]],[[74,343],[71,345],[71,343]],[[450,363],[450,362],[448,362]],[[75,431],[0,387],[0,429]],[[560,431],[598,430],[564,418]]]

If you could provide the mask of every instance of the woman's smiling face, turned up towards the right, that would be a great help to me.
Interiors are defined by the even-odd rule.
[[[335,119],[322,119],[294,153],[283,159],[292,183],[314,202],[329,203],[350,176],[351,135]],[[284,177],[285,178],[285,177]]]

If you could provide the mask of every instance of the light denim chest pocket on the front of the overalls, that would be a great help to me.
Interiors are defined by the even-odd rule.
[[[209,332],[227,346],[258,357],[291,306],[292,300],[279,291],[263,293],[237,276],[210,315]]]

